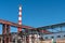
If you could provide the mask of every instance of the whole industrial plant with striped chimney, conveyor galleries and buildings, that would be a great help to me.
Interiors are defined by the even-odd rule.
[[[0,25],[2,25],[0,43],[65,43],[65,23],[38,28],[25,26],[22,24],[22,5],[18,24],[0,19]],[[17,32],[10,32],[10,27],[17,28]]]

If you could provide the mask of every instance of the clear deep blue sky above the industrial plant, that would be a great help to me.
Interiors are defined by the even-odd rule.
[[[0,18],[17,23],[20,4],[23,25],[42,27],[65,22],[65,0],[0,0]]]

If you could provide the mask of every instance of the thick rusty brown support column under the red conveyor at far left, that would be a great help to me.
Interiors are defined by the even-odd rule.
[[[2,26],[3,43],[10,43],[9,33],[10,33],[10,26],[3,24]]]

